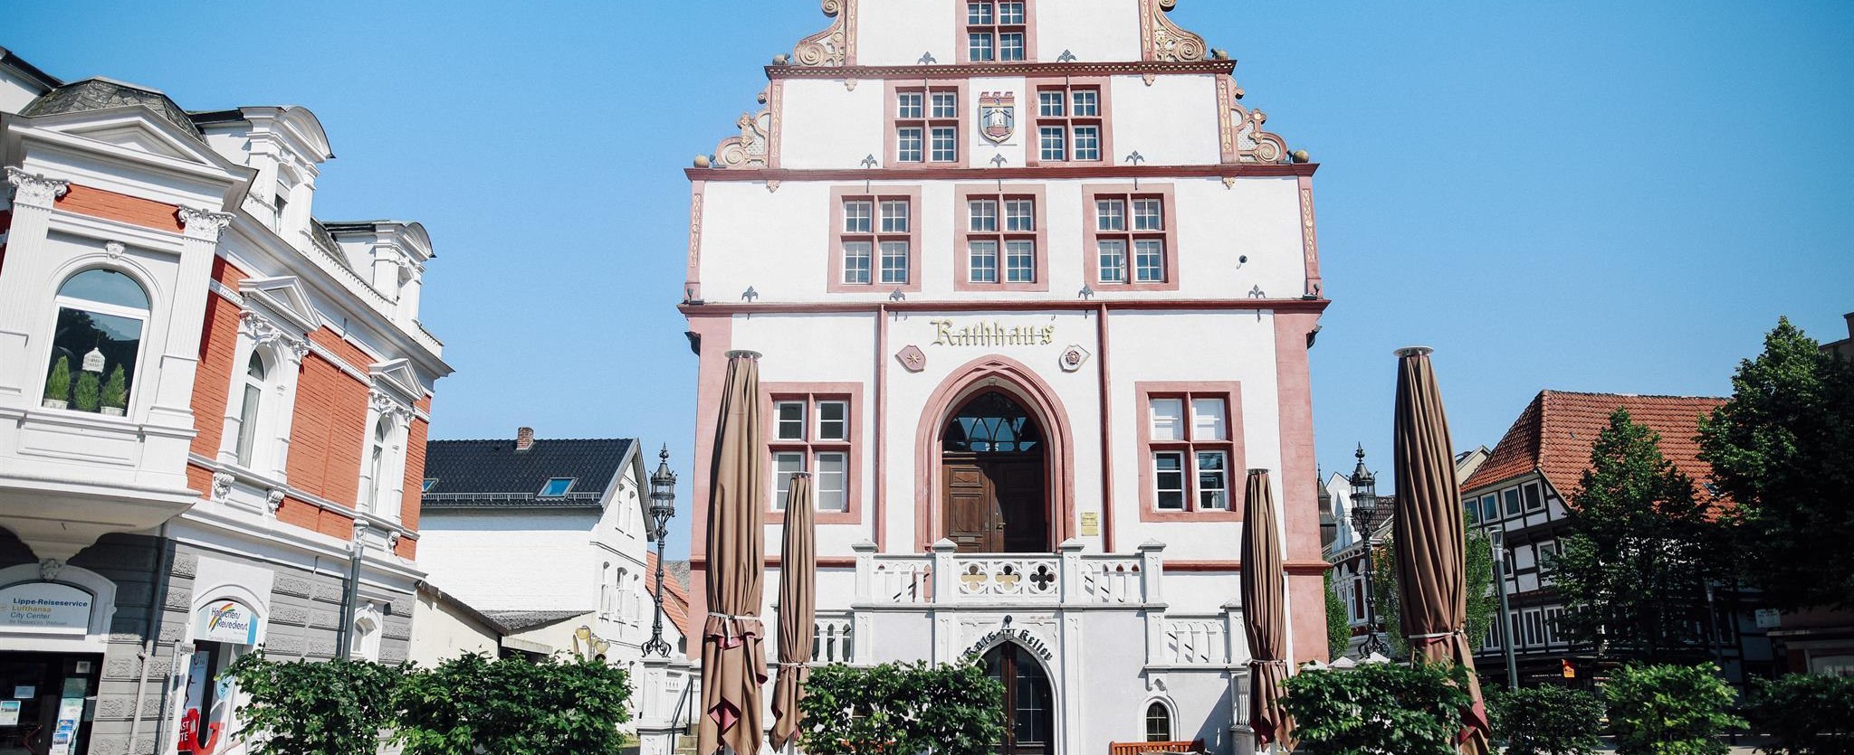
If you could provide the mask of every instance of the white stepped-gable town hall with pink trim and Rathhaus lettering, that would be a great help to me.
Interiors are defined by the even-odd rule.
[[[812,472],[819,637],[853,638],[819,661],[983,657],[1018,690],[1010,753],[1248,751],[1248,468],[1290,657],[1326,657],[1316,167],[1170,7],[825,0],[766,68],[688,170],[693,625],[727,353],[753,350],[768,555]]]

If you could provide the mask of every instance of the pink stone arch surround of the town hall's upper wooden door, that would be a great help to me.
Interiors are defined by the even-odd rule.
[[[920,426],[914,429],[914,546],[927,551],[940,538],[940,429],[947,415],[959,409],[979,390],[1003,389],[1014,394],[1025,409],[1036,413],[1036,420],[1048,433],[1051,450],[1046,455],[1049,477],[1049,550],[1070,537],[1075,537],[1075,437],[1070,431],[1068,411],[1049,383],[1023,363],[986,355],[953,370],[921,407]]]

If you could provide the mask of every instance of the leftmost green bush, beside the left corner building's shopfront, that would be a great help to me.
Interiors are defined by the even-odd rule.
[[[254,755],[373,755],[395,720],[400,672],[369,661],[274,662],[241,655],[226,674]]]

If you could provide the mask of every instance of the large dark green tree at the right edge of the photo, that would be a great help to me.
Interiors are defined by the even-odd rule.
[[[1739,363],[1732,400],[1700,422],[1700,459],[1735,503],[1746,581],[1782,609],[1854,607],[1854,366],[1787,318]]]

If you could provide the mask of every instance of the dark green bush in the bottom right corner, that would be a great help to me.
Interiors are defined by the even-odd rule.
[[[1771,755],[1854,753],[1854,677],[1791,674],[1752,679],[1752,727],[1776,738]]]

